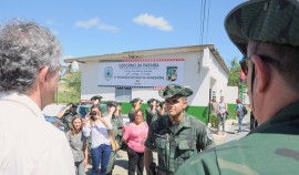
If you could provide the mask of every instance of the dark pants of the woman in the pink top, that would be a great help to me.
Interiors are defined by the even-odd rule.
[[[127,146],[127,156],[128,156],[128,175],[135,175],[135,169],[137,166],[137,175],[143,174],[144,168],[144,153],[134,152]]]

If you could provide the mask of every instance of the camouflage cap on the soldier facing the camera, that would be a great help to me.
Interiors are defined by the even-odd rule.
[[[169,84],[164,89],[159,90],[158,94],[163,99],[168,99],[173,96],[189,96],[193,94],[193,91],[183,85]]]

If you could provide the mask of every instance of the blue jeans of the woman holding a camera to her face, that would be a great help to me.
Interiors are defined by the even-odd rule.
[[[97,175],[101,162],[101,175],[106,175],[111,145],[101,144],[99,147],[91,148],[92,156],[92,175]]]

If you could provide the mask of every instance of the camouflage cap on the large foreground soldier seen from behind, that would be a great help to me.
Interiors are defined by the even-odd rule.
[[[299,1],[247,1],[227,14],[225,29],[245,55],[249,40],[299,47]]]

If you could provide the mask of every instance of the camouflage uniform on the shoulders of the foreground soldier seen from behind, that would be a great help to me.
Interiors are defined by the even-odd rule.
[[[298,116],[296,103],[246,137],[193,156],[177,174],[298,174]]]

